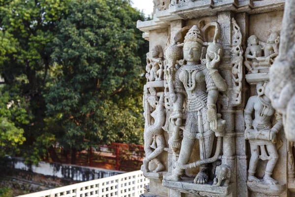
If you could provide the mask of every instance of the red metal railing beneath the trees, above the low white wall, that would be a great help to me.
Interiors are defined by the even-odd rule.
[[[54,147],[58,158],[48,156],[45,161],[71,164],[72,150],[63,150]],[[100,167],[105,169],[134,171],[139,170],[145,157],[144,146],[134,144],[112,143],[90,147],[87,150],[77,151],[75,163],[77,165]]]

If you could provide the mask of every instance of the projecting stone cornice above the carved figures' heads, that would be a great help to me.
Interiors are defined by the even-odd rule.
[[[170,26],[171,21],[183,19],[189,20],[207,16],[214,16],[223,11],[235,13],[247,12],[256,14],[284,9],[285,0],[260,0],[242,1],[223,0],[214,3],[211,0],[188,1],[175,6],[170,5],[169,9],[156,11],[151,21],[138,21],[137,28],[142,32],[163,29]]]

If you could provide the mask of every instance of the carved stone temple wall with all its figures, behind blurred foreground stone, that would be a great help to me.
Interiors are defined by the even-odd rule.
[[[295,196],[295,145],[269,99],[284,0],[154,0],[142,197]]]

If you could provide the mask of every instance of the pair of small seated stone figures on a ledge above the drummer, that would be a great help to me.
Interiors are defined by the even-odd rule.
[[[259,41],[256,35],[248,38],[248,47],[245,52],[248,73],[268,72],[269,66],[274,62],[274,58],[279,52],[280,35],[271,33],[267,42]]]

